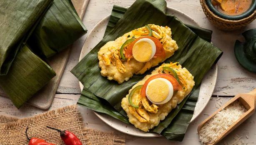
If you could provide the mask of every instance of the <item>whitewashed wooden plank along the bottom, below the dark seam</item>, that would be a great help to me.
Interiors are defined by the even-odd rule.
[[[53,101],[53,105],[50,107],[52,109],[58,109],[63,106],[76,104],[79,98],[79,94],[56,94],[55,99]],[[188,127],[188,131],[185,135],[183,142],[172,142],[166,140],[163,137],[158,138],[140,138],[131,135],[125,135],[106,125],[103,121],[101,121],[95,114],[88,109],[83,107],[78,107],[80,112],[82,113],[84,125],[87,128],[94,128],[101,131],[113,131],[118,135],[123,135],[126,138],[126,145],[200,145],[197,135],[197,126],[198,124],[206,119],[209,114],[212,114],[219,108],[218,104],[225,104],[230,97],[213,97],[206,109],[202,112],[201,116],[199,116],[195,121],[193,121]],[[16,117],[30,117],[43,113],[43,110],[37,109],[33,106],[24,105],[21,109],[16,109],[13,106],[12,102],[5,98],[0,97],[0,115],[7,116],[16,116]],[[241,138],[238,142],[244,142],[244,145],[255,145],[256,144],[256,115],[251,116],[247,121],[242,123],[238,128],[236,128],[231,134],[229,134],[226,138],[223,139],[221,143],[218,145],[242,145],[235,144],[236,138]],[[247,137],[246,137],[247,135]],[[247,143],[247,144],[246,144]]]

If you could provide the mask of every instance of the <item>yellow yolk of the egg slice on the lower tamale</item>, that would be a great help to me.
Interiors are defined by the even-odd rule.
[[[152,80],[151,83],[148,83],[147,86],[147,97],[154,102],[164,101],[168,94],[170,93],[170,89],[168,84],[163,80]]]

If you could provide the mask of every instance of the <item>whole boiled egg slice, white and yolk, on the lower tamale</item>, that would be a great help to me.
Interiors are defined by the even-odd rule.
[[[154,104],[165,104],[173,97],[173,85],[164,78],[151,80],[146,88],[146,96]]]

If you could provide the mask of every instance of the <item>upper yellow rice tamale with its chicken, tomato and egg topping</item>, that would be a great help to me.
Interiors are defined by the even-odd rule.
[[[151,30],[151,36],[147,29]],[[125,33],[100,48],[98,51],[100,73],[108,80],[115,80],[121,84],[129,80],[133,74],[143,74],[163,62],[177,49],[178,46],[171,38],[169,27],[148,24]]]

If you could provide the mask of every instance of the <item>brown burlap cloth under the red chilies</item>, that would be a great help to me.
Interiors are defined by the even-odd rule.
[[[25,136],[27,127],[30,138],[36,137],[56,145],[65,145],[60,139],[60,134],[46,126],[73,132],[83,145],[125,145],[123,137],[84,128],[82,116],[76,105],[48,111],[31,118],[0,116],[0,145],[28,145]]]

